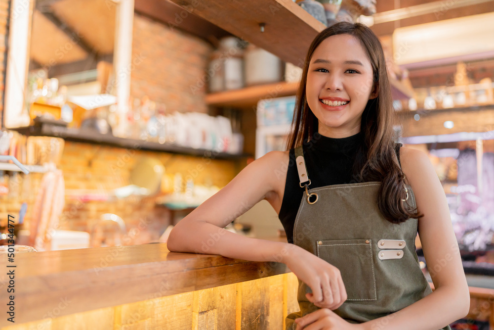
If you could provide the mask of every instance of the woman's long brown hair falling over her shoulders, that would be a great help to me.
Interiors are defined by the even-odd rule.
[[[372,65],[373,91],[377,97],[370,99],[362,113],[360,132],[362,143],[355,161],[354,177],[359,182],[380,181],[378,206],[381,214],[392,223],[401,223],[422,215],[417,209],[402,202],[406,198],[405,175],[395,156],[393,125],[396,114],[392,106],[391,89],[381,43],[367,26],[339,22],[321,31],[312,42],[305,59],[302,79],[297,91],[293,128],[288,137],[287,149],[310,142],[318,136],[318,119],[309,108],[305,87],[309,63],[316,48],[327,38],[348,34],[360,41]],[[365,87],[367,88],[367,87]]]

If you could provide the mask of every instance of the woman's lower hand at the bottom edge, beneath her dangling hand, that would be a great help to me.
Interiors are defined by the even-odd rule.
[[[329,308],[321,308],[315,312],[295,320],[296,330],[359,330],[358,324],[348,323]]]

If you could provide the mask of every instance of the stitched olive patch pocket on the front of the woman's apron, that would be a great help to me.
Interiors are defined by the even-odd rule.
[[[317,256],[338,268],[347,300],[377,300],[371,239],[317,240]]]

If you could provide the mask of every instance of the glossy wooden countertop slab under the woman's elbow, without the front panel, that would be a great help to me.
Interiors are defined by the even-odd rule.
[[[2,259],[0,304],[5,312],[6,273],[14,270],[15,324],[48,318],[50,311],[59,317],[290,272],[283,263],[170,252],[165,243],[19,253],[14,263]],[[0,327],[6,325],[12,323],[2,317]]]

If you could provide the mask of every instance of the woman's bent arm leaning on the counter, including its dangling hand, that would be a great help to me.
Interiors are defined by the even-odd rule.
[[[288,152],[271,151],[250,163],[228,185],[180,220],[170,232],[168,249],[285,263],[312,288],[307,299],[336,309],[347,298],[336,267],[297,245],[249,238],[223,229],[262,199],[281,205],[288,160]]]

